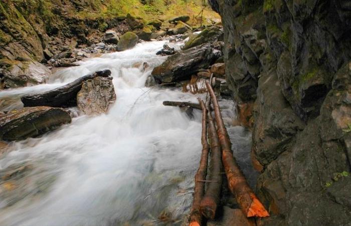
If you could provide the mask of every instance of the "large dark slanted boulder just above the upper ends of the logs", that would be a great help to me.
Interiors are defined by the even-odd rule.
[[[193,74],[208,68],[222,55],[222,52],[215,48],[214,45],[205,44],[178,52],[154,68],[151,75],[158,84],[190,79]]]

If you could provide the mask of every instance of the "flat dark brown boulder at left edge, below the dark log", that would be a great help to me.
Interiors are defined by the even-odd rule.
[[[35,137],[70,122],[69,112],[61,108],[26,107],[0,116],[0,139]]]

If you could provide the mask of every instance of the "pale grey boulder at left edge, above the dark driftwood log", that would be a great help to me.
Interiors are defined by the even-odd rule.
[[[0,60],[0,88],[16,88],[45,83],[51,71],[38,62]]]

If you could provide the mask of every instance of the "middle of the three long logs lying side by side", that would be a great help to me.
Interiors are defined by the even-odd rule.
[[[209,139],[211,144],[211,164],[212,167],[209,169],[209,182],[204,198],[201,201],[201,213],[208,219],[214,219],[216,215],[217,207],[220,203],[220,195],[222,188],[222,151],[216,132],[215,122],[212,117],[210,109],[210,98],[207,101],[208,108],[208,124],[209,124]]]

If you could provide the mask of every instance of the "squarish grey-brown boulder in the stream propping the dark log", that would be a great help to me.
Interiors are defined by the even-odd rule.
[[[84,81],[82,89],[77,95],[79,110],[88,115],[106,113],[115,101],[116,94],[112,77],[96,77]]]

